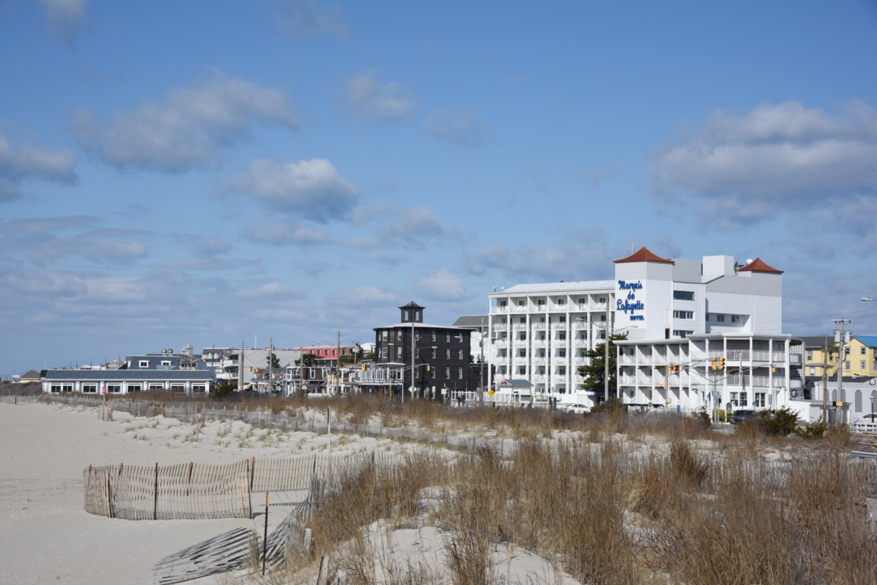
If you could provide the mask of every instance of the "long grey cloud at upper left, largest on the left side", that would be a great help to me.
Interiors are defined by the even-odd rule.
[[[217,160],[217,149],[249,138],[256,124],[296,128],[279,90],[217,74],[208,83],[172,90],[164,103],[119,112],[108,123],[75,112],[72,130],[82,148],[118,169],[181,172]]]

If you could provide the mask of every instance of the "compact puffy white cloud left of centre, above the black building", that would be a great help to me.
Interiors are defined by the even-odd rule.
[[[267,206],[313,221],[345,218],[360,199],[360,188],[339,175],[324,158],[310,161],[255,161],[226,184]]]

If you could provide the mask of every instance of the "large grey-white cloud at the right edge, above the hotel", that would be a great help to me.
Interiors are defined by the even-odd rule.
[[[733,116],[716,112],[699,133],[654,158],[652,190],[694,195],[724,227],[877,192],[877,114],[852,102],[836,116],[797,102]]]

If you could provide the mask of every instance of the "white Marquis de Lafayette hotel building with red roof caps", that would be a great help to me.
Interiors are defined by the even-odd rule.
[[[488,298],[498,391],[529,383],[534,401],[593,405],[602,395],[581,387],[578,368],[617,332],[628,336],[616,372],[628,404],[781,408],[802,394],[803,345],[781,333],[782,272],[760,259],[676,260],[643,248],[615,261],[613,280],[516,285]]]

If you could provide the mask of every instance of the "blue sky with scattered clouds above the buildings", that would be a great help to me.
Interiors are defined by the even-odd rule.
[[[877,3],[0,0],[0,377],[373,342],[645,246],[877,335]]]

